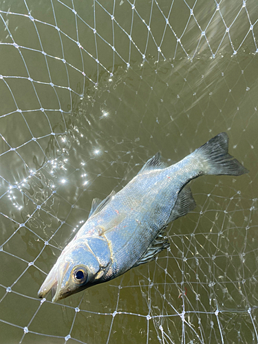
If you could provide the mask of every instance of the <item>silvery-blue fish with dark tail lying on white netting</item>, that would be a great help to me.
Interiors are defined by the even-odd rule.
[[[156,153],[118,193],[92,201],[87,221],[61,252],[38,296],[52,290],[56,302],[152,261],[169,247],[168,224],[196,206],[187,185],[191,180],[244,173],[248,170],[228,154],[226,133],[171,166]]]

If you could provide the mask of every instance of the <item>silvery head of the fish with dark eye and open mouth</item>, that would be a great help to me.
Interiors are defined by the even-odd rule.
[[[99,270],[98,260],[87,246],[75,243],[69,250],[63,250],[39,289],[38,296],[43,298],[52,290],[52,302],[65,299],[95,284]]]

